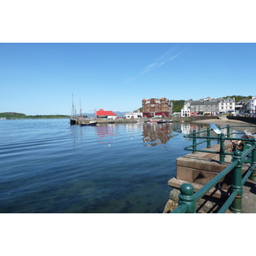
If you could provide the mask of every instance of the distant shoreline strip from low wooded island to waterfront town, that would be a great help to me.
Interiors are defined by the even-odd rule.
[[[256,96],[226,96],[214,99],[212,97],[189,101],[170,101],[165,97],[142,100],[142,108],[132,113],[113,113],[112,110],[99,109],[95,113],[72,113],[72,117],[97,119],[139,119],[139,118],[166,118],[190,116],[214,116],[220,114],[247,115],[256,117]],[[0,119],[60,119],[70,118],[68,115],[26,115],[25,113],[0,113]]]

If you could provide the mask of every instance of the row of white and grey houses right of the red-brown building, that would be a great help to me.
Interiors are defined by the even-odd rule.
[[[236,113],[256,113],[256,96],[252,99],[245,99],[241,102],[235,102],[235,98],[218,98],[211,97],[193,101],[190,99],[184,102],[181,110],[181,116],[198,116],[198,115],[218,115],[218,114],[236,114]]]

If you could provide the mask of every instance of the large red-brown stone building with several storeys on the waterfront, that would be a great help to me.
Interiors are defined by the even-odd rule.
[[[164,118],[172,115],[172,102],[166,98],[143,99],[143,117]]]

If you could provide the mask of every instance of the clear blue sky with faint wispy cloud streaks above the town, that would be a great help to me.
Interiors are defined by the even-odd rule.
[[[0,44],[0,112],[133,111],[143,98],[256,95],[256,44]]]

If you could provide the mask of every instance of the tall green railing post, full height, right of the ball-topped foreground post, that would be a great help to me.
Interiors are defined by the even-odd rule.
[[[242,206],[241,206],[241,198],[242,198],[242,183],[241,183],[241,151],[236,150],[234,152],[234,161],[238,160],[236,167],[233,169],[233,183],[232,183],[232,190],[237,190],[237,195],[232,205],[230,207],[230,211],[234,213],[242,213]]]

